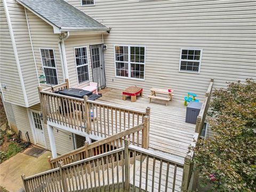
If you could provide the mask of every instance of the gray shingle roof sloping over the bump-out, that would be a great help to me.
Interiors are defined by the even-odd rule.
[[[26,5],[28,9],[33,10],[62,30],[109,29],[64,0],[18,0],[18,2]]]

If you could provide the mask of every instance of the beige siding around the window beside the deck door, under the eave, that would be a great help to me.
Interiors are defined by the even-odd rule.
[[[70,36],[65,41],[65,49],[66,49],[66,58],[67,58],[67,66],[68,66],[68,77],[69,77],[69,85],[70,86],[78,86],[77,82],[77,71],[76,71],[76,62],[75,62],[75,53],[74,47],[87,47],[87,57],[89,63],[89,77],[90,81],[92,81],[92,63],[91,63],[91,54],[90,54],[90,45],[102,44],[101,35],[76,35]],[[82,83],[79,86],[86,86],[87,83]]]

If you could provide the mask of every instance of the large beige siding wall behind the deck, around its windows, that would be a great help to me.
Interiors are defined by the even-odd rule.
[[[214,88],[229,81],[255,78],[255,5],[250,1],[103,1],[81,6],[94,19],[111,27],[104,35],[107,86],[171,88],[174,99],[188,91],[199,99],[214,79]],[[114,45],[145,45],[145,81],[115,78]],[[180,49],[203,49],[199,74],[179,72]],[[112,81],[114,78],[114,82]]]

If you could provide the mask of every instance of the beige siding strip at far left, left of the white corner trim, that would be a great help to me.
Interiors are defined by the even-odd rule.
[[[2,0],[0,1],[0,11],[0,82],[6,84],[6,89],[2,89],[4,100],[25,106],[18,66]]]

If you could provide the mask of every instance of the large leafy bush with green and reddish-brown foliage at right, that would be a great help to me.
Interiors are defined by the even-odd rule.
[[[214,136],[193,148],[201,186],[210,182],[212,191],[256,191],[256,83],[229,83],[212,96]]]

